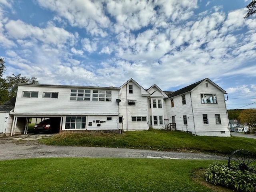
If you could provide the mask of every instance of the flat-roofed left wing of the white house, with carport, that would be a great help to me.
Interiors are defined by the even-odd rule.
[[[19,84],[6,135],[26,133],[29,118],[60,118],[60,130],[119,131],[115,87]]]

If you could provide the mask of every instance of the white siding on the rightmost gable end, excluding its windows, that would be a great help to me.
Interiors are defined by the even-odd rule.
[[[206,88],[206,85],[203,82],[192,92],[196,132],[229,132],[229,121],[226,112],[224,93],[210,82],[207,83],[208,88]],[[218,104],[202,104],[201,94],[216,94]],[[203,114],[207,114],[208,116],[208,125],[203,124]],[[221,124],[216,124],[215,114],[220,114]]]

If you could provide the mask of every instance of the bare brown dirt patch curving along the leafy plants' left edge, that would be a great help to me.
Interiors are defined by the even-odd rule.
[[[226,187],[217,186],[217,185],[206,182],[206,180],[204,180],[204,172],[205,172],[204,168],[194,170],[192,180],[197,184],[200,184],[206,188],[211,189],[212,192],[234,192],[235,191],[235,190],[228,189]]]

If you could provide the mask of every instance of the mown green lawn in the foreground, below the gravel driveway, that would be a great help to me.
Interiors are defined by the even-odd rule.
[[[210,160],[35,158],[0,161],[1,192],[210,192],[196,170]]]

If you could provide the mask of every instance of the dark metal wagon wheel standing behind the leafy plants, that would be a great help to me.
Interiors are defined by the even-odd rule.
[[[256,156],[244,149],[236,150],[228,158],[228,167],[255,172]]]

